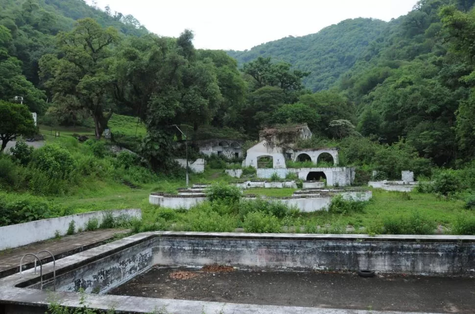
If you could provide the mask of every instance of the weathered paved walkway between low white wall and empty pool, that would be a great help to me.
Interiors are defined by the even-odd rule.
[[[34,253],[41,250],[50,251],[55,259],[60,259],[68,255],[75,254],[80,251],[85,251],[103,244],[107,240],[114,238],[116,233],[126,233],[129,230],[118,229],[101,229],[95,231],[86,231],[67,235],[60,239],[50,239],[42,242],[32,243],[16,249],[7,249],[0,251],[0,278],[9,276],[20,270],[20,259],[26,253]],[[48,253],[43,252],[39,256],[43,263],[52,261]],[[34,266],[33,257],[25,257],[24,262],[27,262],[26,267]]]

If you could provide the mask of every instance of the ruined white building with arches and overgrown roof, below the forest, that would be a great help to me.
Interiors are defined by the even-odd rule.
[[[289,173],[296,173],[302,180],[325,180],[330,186],[342,187],[351,185],[355,179],[354,168],[337,167],[337,148],[301,149],[297,146],[299,141],[312,136],[306,124],[266,128],[259,135],[259,143],[247,150],[244,164],[246,167],[257,168],[260,178],[270,178],[274,173],[285,178]],[[315,167],[287,168],[286,161],[310,162]],[[327,166],[318,167],[321,162],[327,163]],[[328,164],[333,167],[328,167]]]

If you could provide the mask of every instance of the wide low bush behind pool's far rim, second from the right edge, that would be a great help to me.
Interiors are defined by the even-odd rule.
[[[433,234],[437,227],[433,220],[417,211],[410,216],[386,216],[382,222],[386,234]]]

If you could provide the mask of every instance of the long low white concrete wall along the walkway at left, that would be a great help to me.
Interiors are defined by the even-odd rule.
[[[26,222],[23,224],[0,227],[0,250],[21,247],[27,244],[44,241],[54,238],[56,230],[59,234],[65,235],[69,224],[74,220],[76,230],[83,228],[88,221],[97,218],[99,225],[106,211],[91,211],[82,214],[75,214],[57,218],[42,219]],[[142,219],[142,210],[140,209],[118,209],[112,210],[114,217],[121,215]]]

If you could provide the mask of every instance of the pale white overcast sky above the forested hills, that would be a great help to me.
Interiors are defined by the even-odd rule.
[[[92,0],[86,0],[92,3]],[[303,36],[346,19],[390,21],[417,0],[95,0],[112,12],[132,14],[158,35],[177,37],[189,28],[194,45],[207,49],[250,49],[289,35]]]

